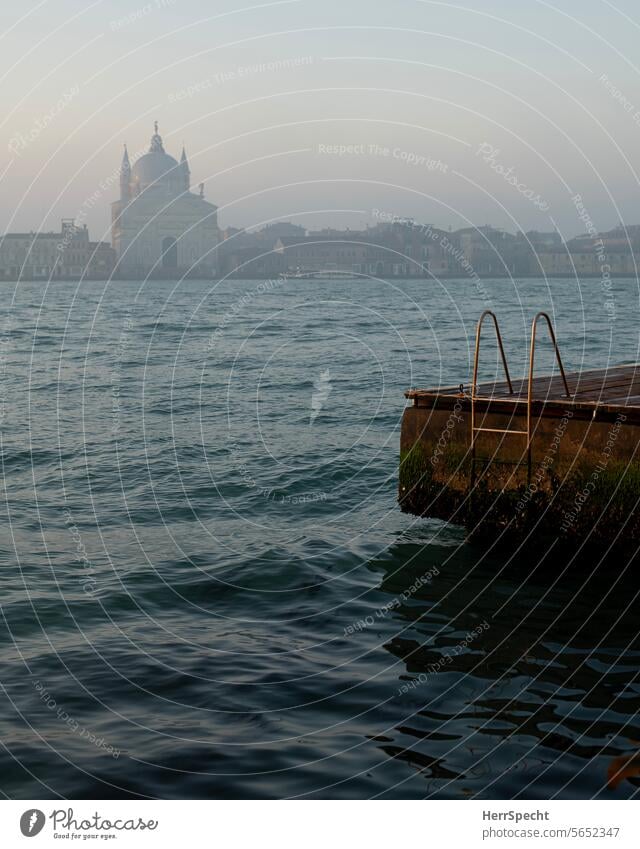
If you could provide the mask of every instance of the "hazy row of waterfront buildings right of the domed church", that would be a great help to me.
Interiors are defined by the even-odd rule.
[[[411,219],[366,230],[308,231],[287,222],[251,233],[228,230],[219,266],[230,277],[331,272],[385,279],[635,277],[638,269],[640,226],[565,242],[556,231],[445,231]]]

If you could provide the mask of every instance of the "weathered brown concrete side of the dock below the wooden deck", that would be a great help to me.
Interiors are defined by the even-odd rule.
[[[477,424],[526,430],[521,413]],[[480,410],[480,408],[479,408]],[[466,526],[472,537],[513,541],[528,533],[561,544],[632,553],[640,545],[640,425],[623,411],[585,412],[569,402],[534,418],[531,471],[526,436],[480,433],[475,475],[468,397],[408,407],[401,431],[399,500],[404,511]]]

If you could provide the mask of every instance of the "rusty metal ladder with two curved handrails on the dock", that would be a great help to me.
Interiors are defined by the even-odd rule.
[[[482,332],[482,325],[487,316],[491,316],[493,319],[493,325],[496,331],[496,337],[498,340],[498,348],[500,349],[500,356],[502,358],[502,365],[504,367],[505,377],[507,378],[507,385],[509,387],[509,394],[514,395],[513,384],[511,382],[511,377],[509,375],[509,367],[507,366],[507,358],[504,353],[504,347],[502,345],[502,335],[500,334],[500,327],[498,326],[498,319],[491,310],[485,310],[478,320],[478,326],[476,328],[476,351],[473,360],[473,382],[471,384],[471,480],[475,481],[475,469],[476,469],[476,441],[479,433],[503,433],[503,434],[513,434],[514,436],[526,436],[527,437],[527,481],[531,480],[531,444],[533,442],[533,417],[531,415],[531,407],[533,403],[533,367],[535,361],[535,349],[536,349],[536,335],[538,330],[538,319],[544,318],[547,322],[547,327],[549,328],[549,336],[551,337],[551,342],[553,344],[553,349],[556,355],[556,360],[558,363],[558,367],[560,369],[560,374],[562,375],[562,382],[564,383],[565,395],[567,398],[571,397],[571,393],[569,392],[569,385],[567,384],[567,377],[564,372],[564,366],[562,365],[562,358],[560,357],[560,350],[558,348],[558,343],[556,341],[556,334],[553,331],[553,325],[551,324],[551,319],[547,315],[546,312],[539,312],[533,319],[531,324],[531,343],[529,346],[529,377],[527,379],[527,429],[526,430],[515,430],[514,428],[494,428],[494,427],[478,427],[476,425],[476,404],[478,401],[492,401],[495,400],[493,398],[483,398],[477,394],[478,391],[478,362],[480,359],[480,335]]]

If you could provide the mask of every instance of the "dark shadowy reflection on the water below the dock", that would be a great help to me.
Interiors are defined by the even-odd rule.
[[[415,742],[381,748],[425,778],[464,776],[469,795],[606,795],[607,785],[623,791],[622,778],[630,795],[640,786],[640,760],[621,754],[640,730],[633,576],[614,577],[607,565],[559,577],[563,564],[541,569],[534,557],[506,570],[472,547],[442,561],[438,583],[399,607],[384,643],[409,682],[396,731]],[[381,586],[402,594],[420,568],[385,575]],[[429,788],[459,792],[450,782]]]

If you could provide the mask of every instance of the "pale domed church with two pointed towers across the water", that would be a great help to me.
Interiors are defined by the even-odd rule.
[[[111,205],[116,276],[205,277],[216,274],[218,209],[191,189],[184,147],[180,162],[165,152],[155,123],[148,153],[133,166],[125,145],[120,200]]]

